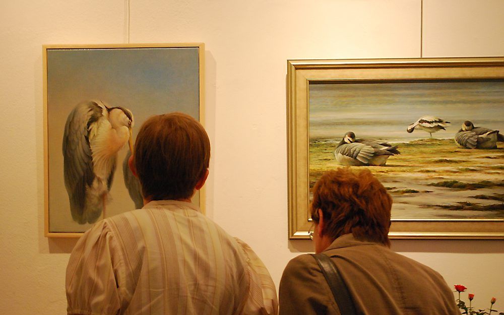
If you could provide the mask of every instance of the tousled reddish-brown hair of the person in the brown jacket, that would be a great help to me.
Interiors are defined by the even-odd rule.
[[[324,215],[324,233],[333,239],[352,233],[356,239],[390,245],[388,238],[392,198],[367,170],[348,167],[325,172],[313,187],[310,212],[319,222]]]

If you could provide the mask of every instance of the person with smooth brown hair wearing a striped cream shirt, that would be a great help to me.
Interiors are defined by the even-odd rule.
[[[67,267],[68,314],[277,314],[268,270],[244,242],[191,203],[205,184],[210,141],[191,116],[149,118],[129,165],[142,209],[106,218]]]

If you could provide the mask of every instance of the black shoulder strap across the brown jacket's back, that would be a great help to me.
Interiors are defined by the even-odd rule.
[[[348,289],[341,279],[340,273],[336,264],[327,255],[324,254],[311,254],[313,258],[317,261],[324,274],[324,277],[333,292],[334,299],[338,308],[340,309],[341,315],[354,315],[355,306],[353,304],[352,298],[348,293]]]

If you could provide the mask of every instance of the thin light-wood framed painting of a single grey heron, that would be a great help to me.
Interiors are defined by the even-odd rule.
[[[128,167],[151,115],[204,121],[203,43],[44,45],[45,235],[78,237],[143,206]],[[204,193],[193,202],[203,209]]]

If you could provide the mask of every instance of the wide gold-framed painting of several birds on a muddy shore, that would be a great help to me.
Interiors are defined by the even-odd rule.
[[[391,238],[504,239],[504,58],[288,60],[289,238],[327,170],[369,169]]]

